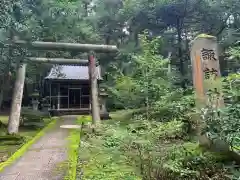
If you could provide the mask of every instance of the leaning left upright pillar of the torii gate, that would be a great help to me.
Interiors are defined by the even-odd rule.
[[[26,73],[26,64],[21,64],[21,65],[19,64],[17,69],[16,81],[14,85],[11,112],[8,120],[8,134],[18,133],[25,73]]]

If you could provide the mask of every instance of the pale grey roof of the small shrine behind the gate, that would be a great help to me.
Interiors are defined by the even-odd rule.
[[[97,67],[97,78],[102,79],[100,66]],[[88,66],[54,66],[45,79],[88,80]]]

